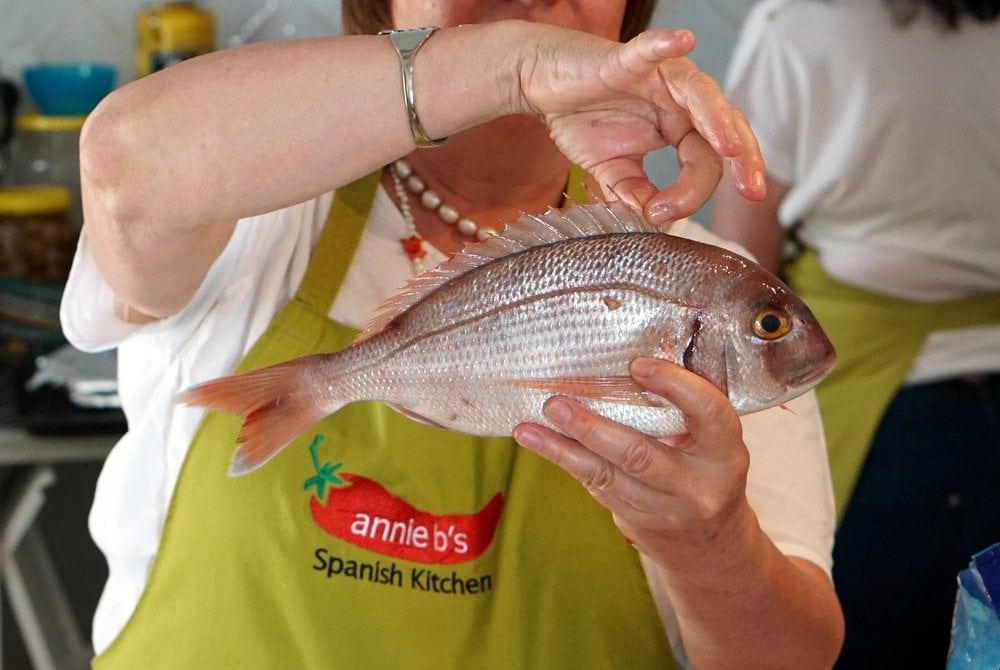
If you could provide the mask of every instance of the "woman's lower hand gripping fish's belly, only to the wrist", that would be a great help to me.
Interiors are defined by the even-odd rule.
[[[656,439],[557,397],[545,416],[565,435],[522,424],[514,437],[577,478],[646,555],[702,561],[744,520],[749,455],[739,418],[721,391],[677,365],[637,359],[632,375],[684,412],[687,435]]]

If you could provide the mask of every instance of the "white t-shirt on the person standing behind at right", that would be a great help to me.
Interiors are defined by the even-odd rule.
[[[831,276],[935,302],[1000,291],[1000,22],[905,28],[873,0],[763,0],[727,93],[781,223]],[[910,383],[1000,370],[1000,326],[932,334]]]

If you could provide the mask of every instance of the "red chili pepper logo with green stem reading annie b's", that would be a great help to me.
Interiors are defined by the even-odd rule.
[[[322,439],[317,435],[309,448],[316,474],[306,489],[316,487],[309,509],[330,535],[383,556],[428,564],[471,561],[489,548],[503,512],[502,493],[475,514],[433,514],[372,479],[338,475],[341,464],[321,465],[316,450]],[[327,491],[327,485],[333,486]]]

